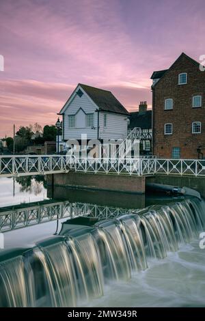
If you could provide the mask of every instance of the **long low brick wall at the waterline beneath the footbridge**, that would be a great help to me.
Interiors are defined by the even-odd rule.
[[[53,174],[53,185],[68,186],[77,189],[94,189],[101,191],[119,191],[126,193],[145,193],[145,177],[120,176],[94,173],[57,173]],[[51,184],[52,176],[48,176]]]

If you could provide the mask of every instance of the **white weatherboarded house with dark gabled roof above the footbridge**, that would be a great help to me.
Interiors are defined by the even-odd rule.
[[[128,111],[107,90],[79,83],[59,112],[63,122],[63,141],[90,139],[125,139]]]

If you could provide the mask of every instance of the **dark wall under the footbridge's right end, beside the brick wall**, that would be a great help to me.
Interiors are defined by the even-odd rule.
[[[189,176],[150,176],[146,178],[146,183],[159,183],[173,186],[187,186],[190,189],[198,191],[202,197],[205,197],[205,178],[200,177],[189,177]]]

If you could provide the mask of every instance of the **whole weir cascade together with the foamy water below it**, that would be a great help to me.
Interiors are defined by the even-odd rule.
[[[73,220],[63,236],[0,256],[0,306],[205,305],[204,228],[199,199]]]

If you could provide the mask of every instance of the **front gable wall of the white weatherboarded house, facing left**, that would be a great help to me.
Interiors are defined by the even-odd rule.
[[[94,113],[94,128],[86,127],[86,114]],[[68,115],[76,115],[76,128],[68,128]],[[87,134],[87,139],[98,137],[98,113],[96,105],[87,97],[75,94],[69,106],[64,111],[64,139],[81,139],[81,134]]]

